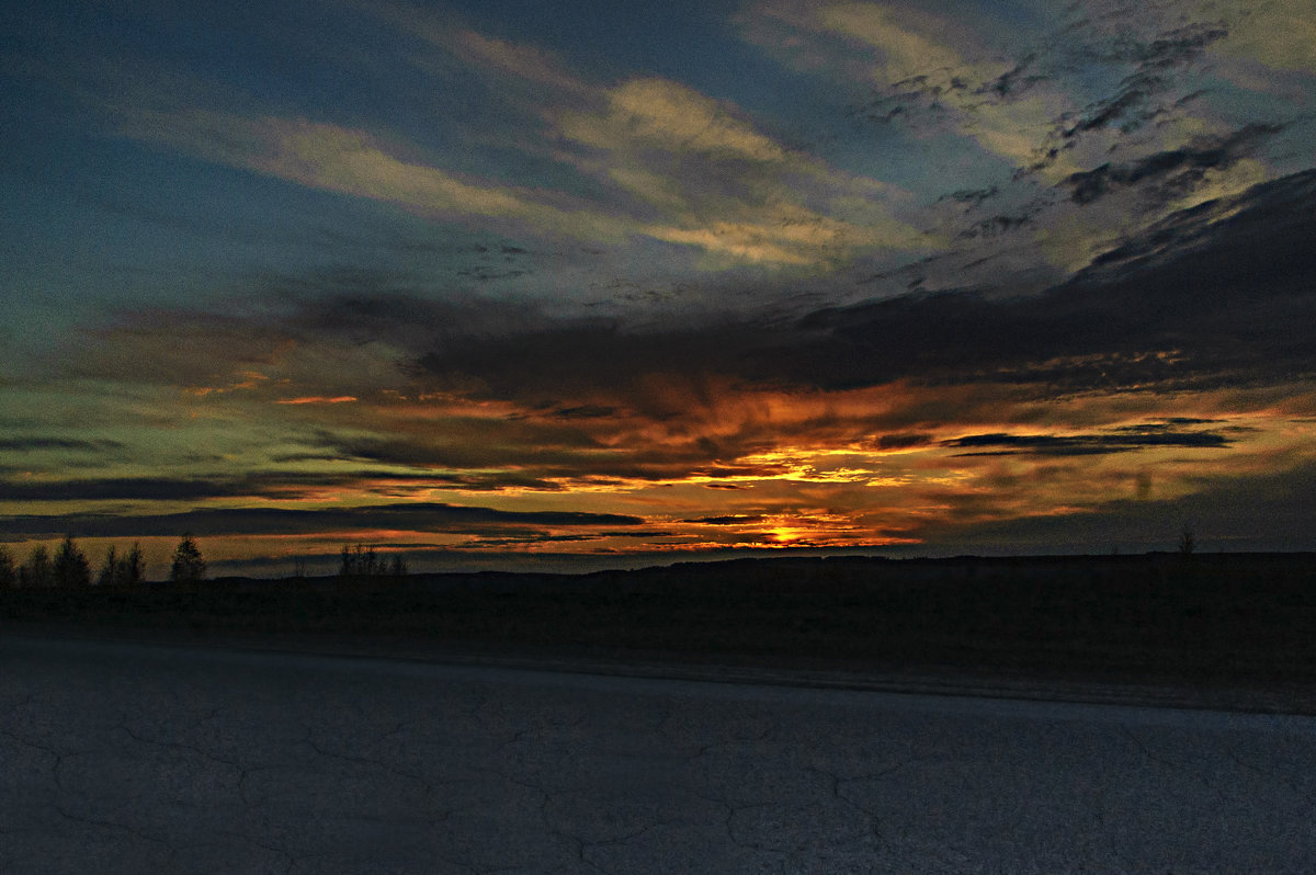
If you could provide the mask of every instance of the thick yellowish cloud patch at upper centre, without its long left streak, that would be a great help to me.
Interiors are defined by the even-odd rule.
[[[687,86],[632,79],[600,89],[595,104],[545,113],[570,146],[561,157],[657,213],[641,229],[649,237],[796,266],[936,245],[898,217],[895,187],[787,150],[736,107]]]

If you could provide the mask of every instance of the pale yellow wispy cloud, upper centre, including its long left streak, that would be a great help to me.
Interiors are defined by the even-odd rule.
[[[503,118],[504,129],[487,134],[490,147],[553,166],[551,184],[457,172],[421,143],[359,125],[168,105],[167,97],[151,108],[137,96],[134,105],[118,108],[117,132],[436,221],[619,251],[692,247],[705,254],[703,267],[715,270],[817,268],[861,249],[936,245],[899,216],[895,187],[787,150],[729,101],[655,76],[590,82],[551,53],[443,16],[404,7],[374,12],[417,41],[408,45],[426,79],[450,84],[458,70],[494,78],[507,105],[491,116],[516,118]],[[487,282],[525,274],[480,268],[468,275]]]

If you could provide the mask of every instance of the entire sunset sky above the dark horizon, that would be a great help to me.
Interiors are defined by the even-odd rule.
[[[0,542],[1316,549],[1316,0],[0,3]]]

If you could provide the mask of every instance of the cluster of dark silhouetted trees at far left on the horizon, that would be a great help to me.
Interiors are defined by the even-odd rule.
[[[174,583],[190,583],[205,579],[205,559],[191,534],[184,534],[174,550],[168,579]],[[101,587],[133,587],[146,582],[146,561],[142,546],[133,542],[126,553],[111,545],[96,574],[95,583]],[[64,536],[54,555],[43,543],[38,543],[28,554],[28,561],[14,564],[14,557],[0,543],[0,589],[20,588],[67,588],[76,589],[92,586],[91,562],[78,546],[74,536]]]

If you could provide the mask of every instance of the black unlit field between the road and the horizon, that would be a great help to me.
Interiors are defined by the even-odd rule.
[[[521,664],[572,658],[1019,688],[1141,684],[1212,705],[1316,713],[1316,554],[783,558],[579,576],[220,579],[8,591],[0,620],[17,632],[512,654]],[[1265,695],[1244,701],[1240,691]]]

